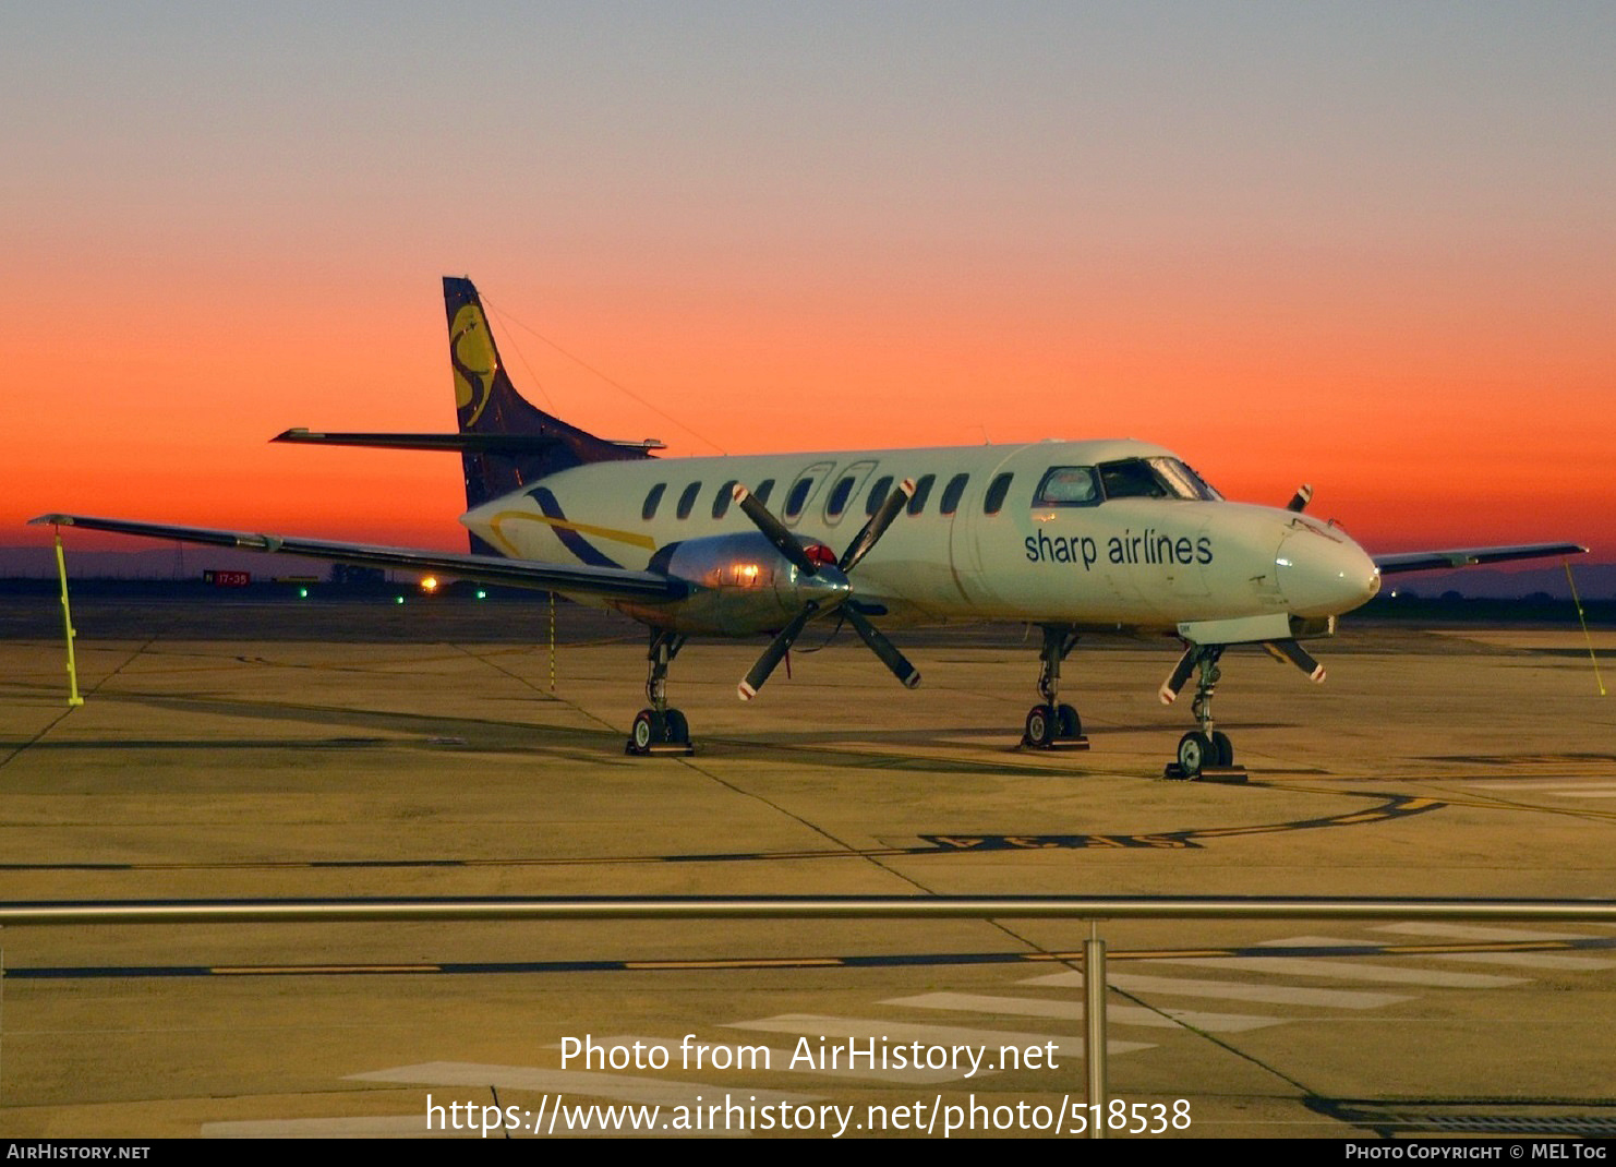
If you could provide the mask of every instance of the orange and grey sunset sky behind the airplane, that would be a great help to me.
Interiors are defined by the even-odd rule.
[[[1611,3],[6,5],[0,545],[464,550],[452,456],[265,441],[451,428],[452,273],[671,454],[1136,436],[1616,561],[1613,60]]]

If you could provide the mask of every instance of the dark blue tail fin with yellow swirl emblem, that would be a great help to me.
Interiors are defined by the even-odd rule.
[[[488,317],[470,280],[444,276],[443,302],[449,314],[449,364],[454,369],[459,432],[488,440],[469,443],[461,453],[467,509],[574,466],[650,456],[643,448],[606,441],[567,425],[517,393],[499,360]],[[532,441],[503,446],[498,441],[501,436]]]

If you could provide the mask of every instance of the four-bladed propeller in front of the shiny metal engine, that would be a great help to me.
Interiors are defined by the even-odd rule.
[[[776,519],[769,508],[760,503],[750,490],[739,485],[735,487],[734,496],[735,504],[751,519],[753,525],[763,532],[763,537],[772,543],[782,556],[785,556],[797,571],[803,575],[814,579],[821,577],[827,584],[842,584],[844,587],[839,593],[832,593],[826,600],[810,600],[803,605],[802,611],[792,617],[792,622],[781,629],[769,647],[763,650],[756,664],[742,679],[737,690],[740,692],[740,700],[750,701],[763,689],[763,682],[769,679],[774,668],[785,658],[790,651],[792,643],[802,635],[802,630],[808,627],[808,621],[821,616],[827,611],[840,611],[842,617],[853,626],[853,632],[858,634],[860,640],[869,645],[869,651],[881,658],[892,676],[903,682],[908,689],[920,684],[920,672],[913,664],[887,640],[869,619],[860,613],[856,608],[847,605],[848,592],[845,588],[847,572],[853,571],[871,548],[881,540],[892,525],[892,520],[898,517],[898,512],[908,506],[910,498],[915,495],[915,482],[905,478],[898,487],[887,495],[869,520],[860,529],[853,537],[853,541],[847,545],[842,558],[834,564],[819,562],[808,553],[808,548],[787,530],[785,524]]]

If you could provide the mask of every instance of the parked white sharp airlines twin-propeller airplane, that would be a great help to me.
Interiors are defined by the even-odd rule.
[[[467,554],[255,532],[45,514],[34,524],[448,572],[616,608],[650,630],[632,755],[692,752],[669,705],[669,664],[690,637],[772,635],[739,684],[751,700],[810,621],[835,619],[907,687],[920,672],[877,627],[1013,621],[1042,630],[1029,748],[1086,748],[1060,666],[1086,634],[1176,637],[1160,687],[1194,677],[1186,732],[1165,768],[1181,779],[1244,781],[1215,727],[1218,659],[1260,645],[1312,680],[1302,640],[1335,634],[1396,572],[1582,554],[1576,543],[1367,554],[1306,514],[1227,501],[1185,461],[1133,440],[658,457],[546,414],[512,385],[482,299],[444,276],[454,433],[320,433],[273,441],[457,451]],[[840,548],[840,551],[837,551]]]

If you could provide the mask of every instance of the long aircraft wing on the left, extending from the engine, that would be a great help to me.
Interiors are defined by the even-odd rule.
[[[331,543],[317,538],[291,535],[263,535],[246,530],[210,530],[207,527],[171,527],[158,522],[129,522],[126,519],[95,519],[82,514],[42,514],[31,524],[58,527],[84,527],[86,530],[110,530],[120,535],[145,535],[147,538],[178,540],[181,543],[205,543],[241,551],[267,551],[294,554],[305,559],[351,562],[365,567],[404,567],[407,571],[441,571],[482,584],[562,592],[566,595],[611,596],[656,603],[680,600],[690,593],[690,585],[667,575],[621,567],[587,567],[582,564],[553,564],[533,559],[501,559],[488,554],[456,554],[452,551],[415,551],[399,546],[372,546],[368,543]]]

